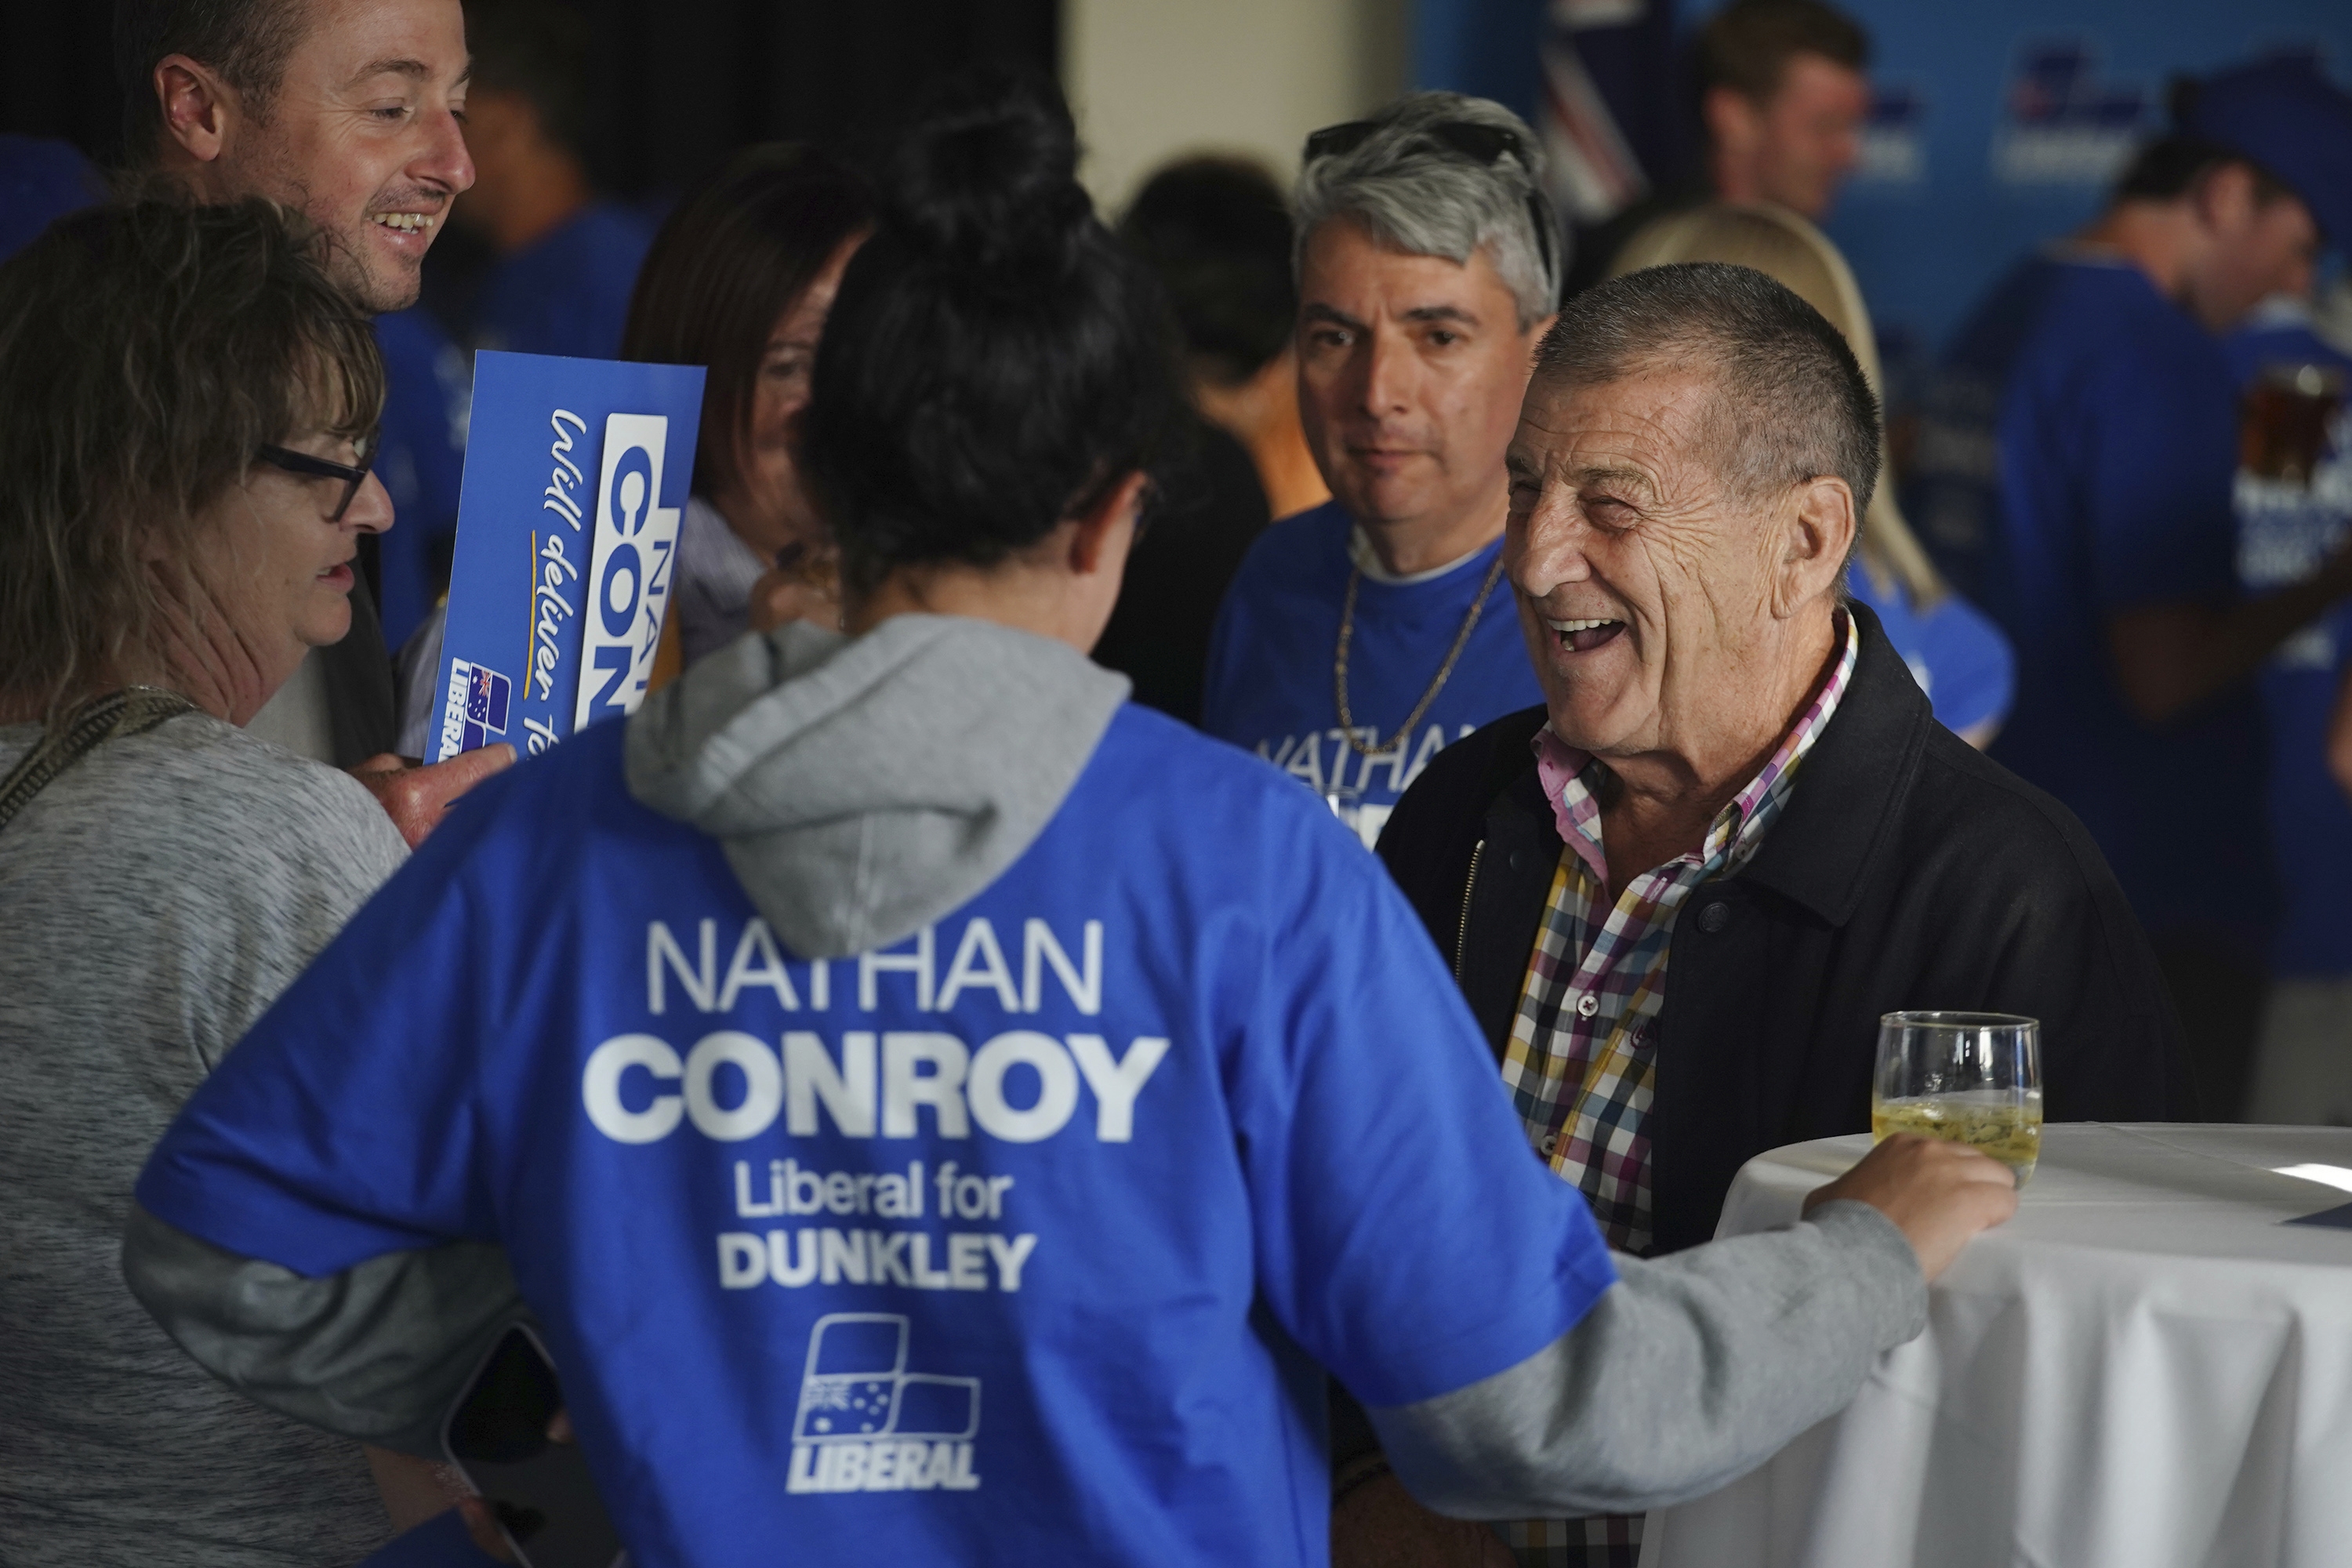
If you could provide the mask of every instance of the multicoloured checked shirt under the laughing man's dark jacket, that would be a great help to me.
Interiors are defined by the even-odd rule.
[[[1562,1180],[1576,1182],[1616,1251],[1649,1251],[1649,1135],[1642,1124],[1658,1065],[1675,914],[1698,884],[1736,875],[1788,804],[1797,764],[1853,679],[1860,639],[1851,616],[1839,616],[1839,639],[1830,679],[1748,788],[1715,813],[1705,842],[1635,877],[1613,907],[1606,903],[1599,797],[1609,773],[1550,726],[1536,733],[1536,773],[1566,849],[1519,987],[1503,1084],[1529,1143]],[[1635,1568],[1642,1554],[1639,1516],[1531,1519],[1498,1528],[1522,1568]]]

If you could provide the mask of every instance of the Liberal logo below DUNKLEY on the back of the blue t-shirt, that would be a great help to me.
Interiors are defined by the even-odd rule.
[[[906,1371],[908,1319],[833,1312],[809,1333],[793,1418],[795,1493],[976,1490],[981,1380]]]

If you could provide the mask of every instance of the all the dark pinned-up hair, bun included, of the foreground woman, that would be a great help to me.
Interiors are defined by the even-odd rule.
[[[1075,172],[1061,94],[1000,66],[953,78],[901,143],[800,416],[851,592],[995,567],[1157,463],[1183,402],[1167,303]]]

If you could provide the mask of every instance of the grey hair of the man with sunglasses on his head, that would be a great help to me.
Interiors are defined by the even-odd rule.
[[[1519,153],[1477,162],[1430,136],[1432,125],[1465,122],[1510,132]],[[1291,197],[1291,273],[1331,219],[1352,219],[1378,244],[1406,256],[1468,266],[1479,249],[1503,277],[1526,331],[1559,306],[1559,219],[1543,193],[1543,153],[1519,115],[1458,92],[1414,92],[1371,115],[1359,146],[1312,158]],[[1536,223],[1550,233],[1538,240]]]

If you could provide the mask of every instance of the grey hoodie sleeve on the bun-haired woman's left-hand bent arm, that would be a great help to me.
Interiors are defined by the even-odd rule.
[[[506,1253],[454,1241],[306,1279],[132,1204],[122,1279],[198,1366],[282,1415],[428,1460],[442,1418],[508,1324]]]

